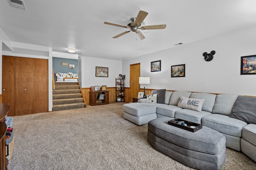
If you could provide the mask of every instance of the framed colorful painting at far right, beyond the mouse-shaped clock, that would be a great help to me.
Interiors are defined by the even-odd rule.
[[[256,74],[256,55],[241,57],[242,74]]]

